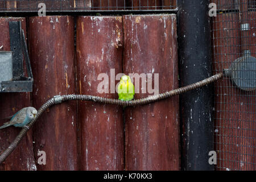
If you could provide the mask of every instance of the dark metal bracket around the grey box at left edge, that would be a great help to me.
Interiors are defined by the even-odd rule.
[[[33,75],[21,22],[9,22],[9,30],[10,47],[13,52],[13,80],[0,81],[0,92],[32,92]],[[23,69],[23,55],[28,77],[25,77]]]

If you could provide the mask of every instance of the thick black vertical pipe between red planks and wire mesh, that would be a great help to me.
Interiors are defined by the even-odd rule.
[[[209,0],[177,1],[180,86],[212,75]],[[213,85],[180,96],[181,169],[213,170]]]

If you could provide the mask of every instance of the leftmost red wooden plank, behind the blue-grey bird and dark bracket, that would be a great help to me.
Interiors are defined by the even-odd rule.
[[[21,21],[22,28],[26,32],[26,18],[0,18],[0,44],[3,46],[2,51],[10,51],[9,22]],[[0,46],[0,47],[1,47]],[[30,106],[29,93],[1,93],[0,94],[0,118],[6,118],[16,113],[23,107]],[[6,122],[0,120],[0,125]],[[0,154],[9,147],[13,142],[20,129],[16,127],[8,127],[0,131]],[[36,170],[32,132],[29,131],[23,138],[22,142],[15,148],[13,153],[0,164],[0,170]]]

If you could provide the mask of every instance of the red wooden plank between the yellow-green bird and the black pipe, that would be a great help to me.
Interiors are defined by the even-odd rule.
[[[159,93],[176,89],[179,86],[176,16],[125,15],[123,30],[123,72],[158,73]],[[152,85],[158,82],[155,75],[153,80]],[[135,82],[135,92],[139,91],[135,99],[152,95],[148,88],[143,93],[142,84],[140,81],[137,90]],[[125,169],[178,170],[179,156],[178,96],[125,109]]]

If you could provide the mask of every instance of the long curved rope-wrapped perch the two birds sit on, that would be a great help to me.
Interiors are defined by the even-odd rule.
[[[34,123],[40,117],[40,115],[42,115],[43,112],[46,109],[48,109],[49,107],[51,107],[52,105],[60,104],[61,102],[71,101],[71,100],[92,101],[92,102],[100,102],[102,104],[115,104],[115,105],[122,105],[122,106],[144,105],[144,104],[150,104],[151,102],[163,100],[164,98],[168,98],[171,96],[176,96],[178,94],[188,92],[189,90],[200,88],[200,87],[208,85],[214,81],[217,81],[222,77],[223,77],[223,73],[218,73],[214,76],[206,78],[205,80],[196,82],[195,84],[184,86],[182,88],[171,90],[169,92],[158,94],[156,96],[149,96],[147,98],[141,98],[141,99],[133,100],[133,101],[121,101],[121,100],[116,100],[116,99],[112,99],[112,98],[104,98],[104,97],[89,96],[89,95],[75,95],[75,94],[64,95],[64,96],[54,96],[53,98],[48,100],[45,104],[43,104],[40,107],[35,118],[32,119],[32,121],[27,126],[23,127],[23,129],[20,131],[20,133],[17,135],[17,137],[13,140],[13,142],[10,144],[10,146],[8,148],[6,148],[5,151],[3,151],[3,153],[0,155],[0,164],[18,146],[19,142],[22,140],[24,135],[27,134],[27,131],[34,125]]]

